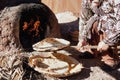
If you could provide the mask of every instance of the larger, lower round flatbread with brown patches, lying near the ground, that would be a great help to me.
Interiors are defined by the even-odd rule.
[[[39,54],[29,57],[29,65],[34,70],[54,77],[66,77],[79,73],[83,68],[73,57],[61,53]]]

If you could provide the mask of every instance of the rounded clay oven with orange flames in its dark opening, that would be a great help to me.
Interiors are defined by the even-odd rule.
[[[0,5],[1,53],[27,50],[45,37],[59,37],[59,26],[55,15],[39,0],[6,0]],[[35,25],[39,27],[38,32],[37,30],[32,32]],[[25,26],[29,28],[30,37],[39,35],[37,37],[39,39],[26,37],[23,31]]]

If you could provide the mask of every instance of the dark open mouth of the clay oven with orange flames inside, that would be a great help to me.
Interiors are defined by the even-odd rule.
[[[21,13],[20,42],[25,50],[45,38],[47,15],[40,9],[26,9]]]

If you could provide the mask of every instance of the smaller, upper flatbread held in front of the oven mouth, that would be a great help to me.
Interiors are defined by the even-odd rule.
[[[68,47],[70,42],[60,38],[45,38],[34,44],[32,47],[36,51],[56,51]]]

